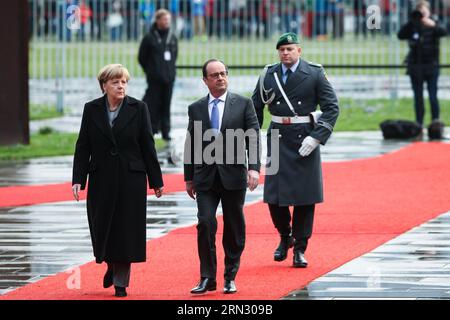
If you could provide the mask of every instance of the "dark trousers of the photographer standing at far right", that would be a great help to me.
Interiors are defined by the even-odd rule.
[[[416,121],[423,125],[425,107],[423,99],[423,84],[427,83],[428,96],[431,105],[431,119],[439,119],[439,101],[437,98],[439,67],[433,65],[411,66],[408,70],[414,91],[414,109]]]

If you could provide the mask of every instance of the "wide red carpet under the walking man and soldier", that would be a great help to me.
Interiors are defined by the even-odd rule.
[[[412,227],[450,210],[450,145],[416,143],[382,157],[324,165],[325,203],[319,205],[307,269],[272,260],[278,236],[266,205],[246,207],[247,243],[234,295],[221,293],[223,249],[218,247],[218,291],[189,293],[199,274],[194,226],[148,243],[148,261],[133,265],[129,299],[278,299]],[[168,185],[168,183],[166,183]],[[149,208],[151,210],[151,208]],[[221,219],[219,229],[222,230]],[[81,288],[67,289],[60,273],[0,299],[109,299],[104,265],[81,266]]]

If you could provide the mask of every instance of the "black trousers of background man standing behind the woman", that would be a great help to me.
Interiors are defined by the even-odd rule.
[[[173,83],[162,84],[148,82],[142,100],[147,104],[152,122],[153,134],[161,131],[163,139],[170,137],[170,103]]]

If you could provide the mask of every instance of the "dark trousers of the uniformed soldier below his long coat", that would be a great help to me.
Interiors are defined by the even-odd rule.
[[[281,237],[294,237],[294,251],[305,252],[308,247],[308,240],[311,238],[315,204],[305,206],[295,206],[292,215],[289,207],[279,207],[278,205],[269,204],[270,216],[273,224],[277,228]]]

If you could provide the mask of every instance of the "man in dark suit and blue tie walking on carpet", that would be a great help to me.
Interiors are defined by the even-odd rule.
[[[189,106],[184,161],[186,191],[191,198],[197,198],[198,207],[201,279],[191,293],[216,290],[219,202],[224,221],[224,293],[235,293],[234,279],[245,245],[246,188],[253,191],[259,180],[259,125],[252,101],[227,91],[228,70],[224,63],[208,60],[202,71],[209,94]]]

